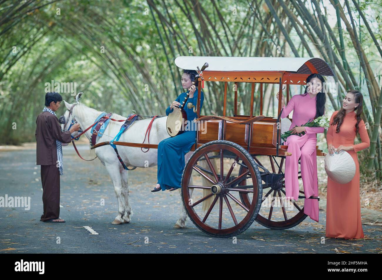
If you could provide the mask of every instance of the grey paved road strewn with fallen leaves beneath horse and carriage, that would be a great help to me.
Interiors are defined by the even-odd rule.
[[[133,219],[113,225],[117,200],[110,179],[99,160],[84,162],[73,147],[64,149],[60,217],[65,223],[40,222],[42,188],[34,149],[0,152],[0,196],[30,196],[31,209],[0,207],[0,253],[379,253],[379,226],[363,226],[366,238],[336,240],[325,235],[325,211],[320,222],[309,218],[288,230],[267,229],[254,222],[233,238],[211,238],[191,221],[173,225],[181,210],[178,192],[150,192],[156,168],[129,173]],[[84,156],[88,146],[80,145]],[[100,203],[105,200],[105,205]],[[90,226],[99,235],[84,228]],[[145,240],[146,243],[145,243]],[[336,249],[335,249],[336,248]]]

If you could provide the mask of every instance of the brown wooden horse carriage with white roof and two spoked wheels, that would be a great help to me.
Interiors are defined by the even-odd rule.
[[[189,218],[213,237],[238,235],[254,220],[270,229],[298,225],[306,218],[305,197],[301,186],[298,201],[285,200],[283,168],[290,154],[280,138],[281,98],[277,116],[264,116],[263,87],[277,84],[281,94],[286,86],[287,104],[289,85],[306,85],[306,78],[312,73],[333,76],[332,69],[320,58],[183,56],[175,59],[181,69],[197,70],[205,62],[209,67],[203,71],[204,82],[223,82],[224,101],[222,116],[200,115],[202,88],[198,87],[197,104],[194,104],[198,131],[191,148],[194,152],[188,158],[181,180],[181,196]],[[201,78],[199,85],[200,81]],[[238,92],[243,83],[251,84],[248,115],[238,114]],[[253,112],[256,83],[259,83],[260,100],[256,100],[260,102],[259,115]],[[233,116],[229,117],[227,100],[232,98],[227,97],[228,89],[234,91]],[[210,92],[209,96],[212,94],[219,93]],[[205,99],[205,109],[206,102]],[[325,155],[318,146],[317,155]],[[202,162],[209,168],[203,168]],[[202,177],[210,182],[209,186],[201,185]]]

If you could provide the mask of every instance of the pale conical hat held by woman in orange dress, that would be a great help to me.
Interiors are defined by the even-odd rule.
[[[356,174],[356,164],[351,155],[341,150],[338,154],[325,156],[325,171],[338,184],[347,184]]]

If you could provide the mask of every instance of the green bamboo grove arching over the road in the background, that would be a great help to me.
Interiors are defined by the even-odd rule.
[[[364,171],[382,179],[381,11],[381,0],[0,0],[0,142],[34,141],[51,80],[75,82],[100,110],[155,115],[181,91],[177,56],[320,57],[339,87],[327,92],[328,112],[348,89],[365,96]],[[213,84],[206,83],[204,113],[219,115],[223,85]],[[268,115],[274,90],[264,88]],[[239,89],[243,106],[250,95]]]

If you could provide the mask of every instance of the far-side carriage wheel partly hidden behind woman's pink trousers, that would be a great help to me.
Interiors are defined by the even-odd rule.
[[[285,157],[283,156],[264,156],[269,158],[270,162],[270,174],[262,173],[262,180],[265,179],[265,184],[263,184],[263,195],[262,195],[262,203],[269,199],[271,203],[268,203],[267,207],[264,208],[262,206],[262,210],[259,211],[257,215],[256,221],[262,226],[268,227],[270,229],[289,229],[298,225],[302,222],[307,215],[304,214],[304,191],[300,190],[299,200],[297,203],[293,201],[293,205],[289,202],[289,207],[285,205],[285,179],[283,173],[283,166],[285,164]],[[264,168],[264,165],[258,159],[258,156],[253,156],[259,168],[263,170],[267,170]],[[300,162],[299,162],[300,163]],[[241,168],[239,174],[245,172],[244,168]],[[301,179],[301,171],[299,171],[298,179]],[[245,185],[245,180],[240,182],[240,184]],[[240,185],[239,184],[239,185]],[[269,197],[270,196],[270,197]],[[241,202],[244,205],[249,205],[251,203],[250,197],[245,193],[240,193]],[[269,201],[268,200],[268,201]],[[282,216],[275,217],[275,209],[274,203],[280,203],[278,206],[278,211],[282,212]],[[301,205],[302,203],[302,205]],[[292,209],[291,209],[292,208]],[[281,213],[280,213],[281,214]]]

